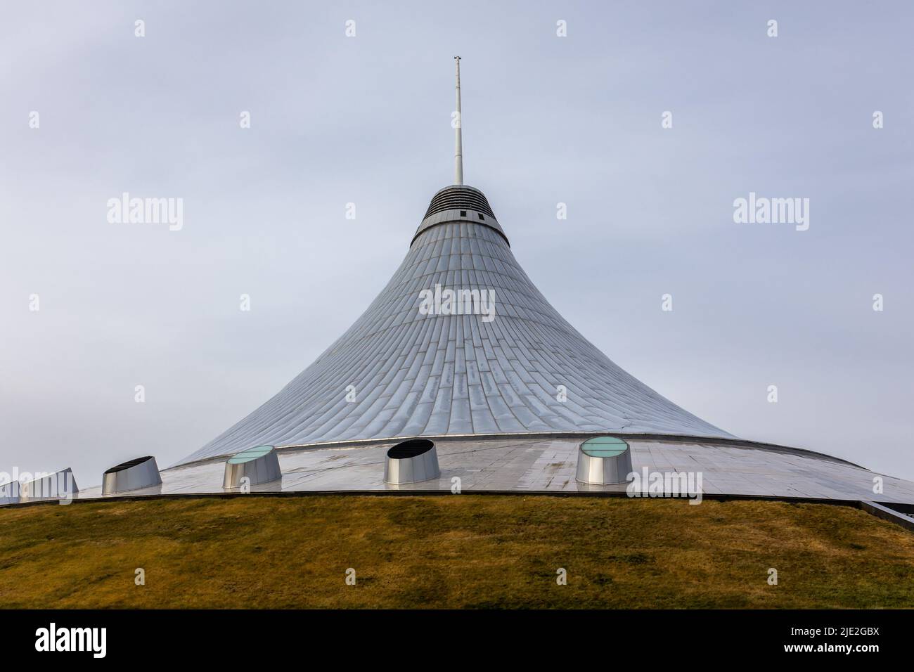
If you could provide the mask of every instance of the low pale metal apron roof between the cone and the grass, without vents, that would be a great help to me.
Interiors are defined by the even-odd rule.
[[[581,438],[513,436],[485,439],[435,439],[441,475],[421,483],[388,485],[384,463],[399,442],[334,443],[276,452],[282,466],[283,493],[314,491],[452,490],[459,478],[462,492],[607,492],[626,485],[589,485],[576,480]],[[878,475],[863,467],[820,453],[767,444],[664,437],[627,438],[632,472],[701,474],[707,494],[876,500],[914,504],[914,483]],[[225,463],[219,460],[165,469],[162,494],[223,493]],[[874,494],[874,478],[883,492]],[[260,486],[258,486],[260,487]],[[253,490],[254,488],[252,488]],[[99,497],[101,486],[78,497]]]

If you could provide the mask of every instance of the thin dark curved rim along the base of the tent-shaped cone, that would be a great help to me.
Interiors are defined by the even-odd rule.
[[[319,448],[332,448],[339,446],[342,448],[355,447],[362,445],[369,445],[371,443],[377,443],[378,445],[391,442],[400,442],[406,439],[430,439],[431,441],[480,441],[480,440],[496,440],[496,441],[505,441],[507,439],[530,439],[531,441],[541,440],[541,439],[573,439],[573,438],[590,438],[593,436],[624,436],[627,439],[635,440],[660,440],[668,442],[679,442],[679,443],[715,443],[717,445],[726,445],[733,448],[753,448],[771,451],[772,453],[792,453],[805,455],[807,457],[813,457],[819,460],[825,460],[828,462],[837,462],[840,464],[849,464],[855,466],[858,469],[866,469],[865,466],[850,462],[840,457],[834,457],[834,455],[829,455],[826,453],[819,453],[817,451],[811,451],[806,448],[794,448],[788,445],[781,445],[779,443],[763,443],[759,441],[748,441],[745,439],[728,439],[716,436],[696,436],[689,434],[656,434],[656,433],[632,433],[632,432],[613,432],[612,430],[607,430],[606,432],[537,432],[522,434],[517,432],[508,432],[504,434],[439,434],[437,436],[390,436],[383,439],[350,439],[347,441],[328,441],[320,443],[299,443],[299,444],[289,444],[289,445],[278,445],[276,446],[276,451],[285,452],[298,452]],[[207,464],[212,462],[225,462],[231,455],[234,453],[226,453],[224,455],[217,455],[214,457],[207,457],[204,460],[197,460],[195,462],[187,462],[184,464],[173,464],[172,466],[163,469],[162,471],[171,471],[172,469],[183,469],[189,466],[197,466],[197,464]],[[866,471],[869,471],[866,469]]]

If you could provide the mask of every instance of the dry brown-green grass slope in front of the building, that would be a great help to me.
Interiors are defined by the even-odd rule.
[[[824,505],[157,499],[0,510],[0,538],[3,607],[914,607],[914,535]]]

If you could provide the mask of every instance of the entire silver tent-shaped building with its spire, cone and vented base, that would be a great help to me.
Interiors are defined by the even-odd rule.
[[[914,483],[741,441],[623,371],[539,293],[488,199],[462,184],[462,123],[454,165],[456,184],[432,197],[405,259],[365,313],[260,408],[162,472],[158,491],[221,494],[247,478],[283,493],[454,484],[462,492],[623,492],[631,472],[643,482],[661,476],[660,495],[673,494],[664,477],[687,475],[707,494],[914,504]],[[491,293],[494,312],[420,312],[422,293],[438,287]],[[594,434],[624,436],[628,450],[611,460],[581,452]],[[417,437],[434,446],[388,455]],[[59,496],[60,475],[64,494],[80,499],[122,492],[107,475],[80,492],[68,469],[7,485],[0,504]]]

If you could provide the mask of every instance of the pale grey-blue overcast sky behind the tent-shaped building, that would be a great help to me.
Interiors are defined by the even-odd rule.
[[[464,179],[572,325],[728,432],[914,479],[908,2],[0,12],[0,471],[173,464],[310,364],[452,181],[460,54]],[[750,191],[809,229],[734,223]]]

